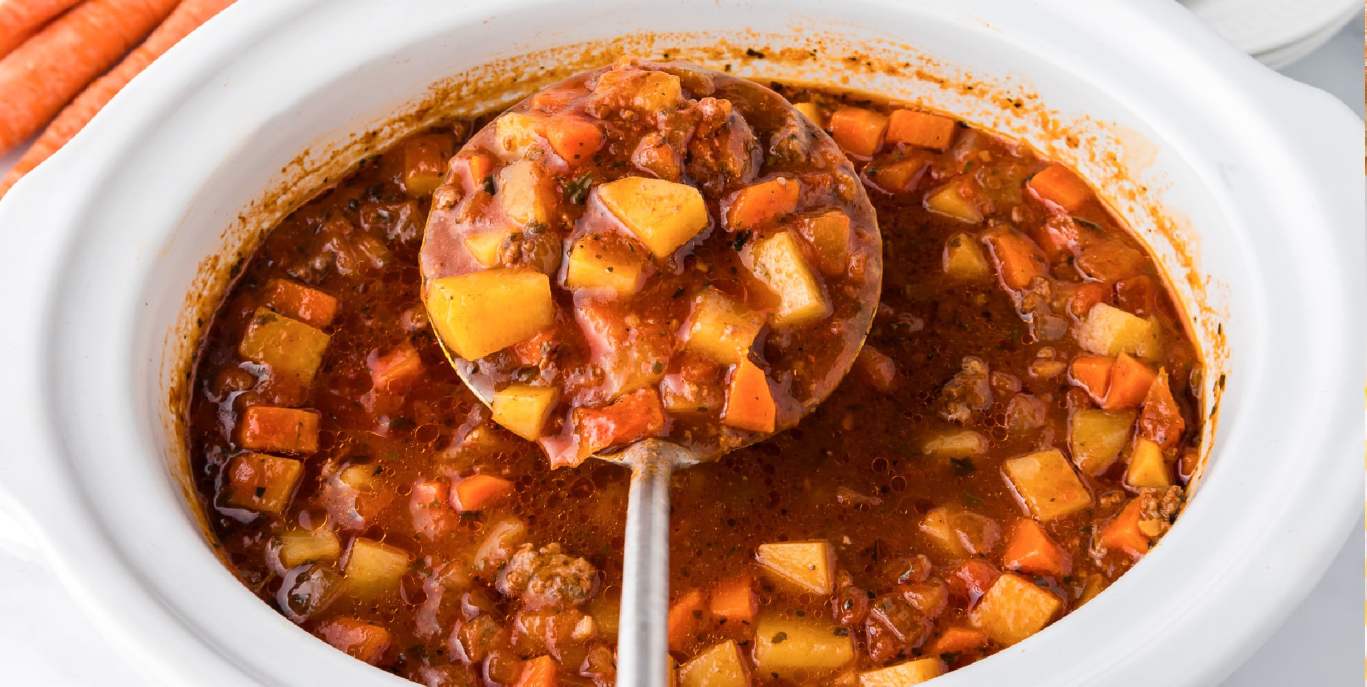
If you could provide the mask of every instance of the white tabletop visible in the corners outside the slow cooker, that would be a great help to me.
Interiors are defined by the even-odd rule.
[[[1336,40],[1315,56],[1325,56],[1325,67],[1314,74],[1296,74],[1312,82],[1325,79],[1319,83],[1341,93],[1359,112],[1360,26],[1360,22],[1351,25],[1348,31],[1356,38]],[[1226,684],[1356,684],[1362,675],[1357,664],[1363,636],[1359,624],[1363,587],[1357,576],[1362,560],[1359,534],[1284,631]],[[5,684],[144,684],[111,645],[94,634],[41,563],[5,553],[0,553],[0,665],[5,667],[0,680]]]

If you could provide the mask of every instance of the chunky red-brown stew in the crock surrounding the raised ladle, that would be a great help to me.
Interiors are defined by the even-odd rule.
[[[812,415],[675,475],[675,679],[917,684],[1039,632],[1167,531],[1199,358],[1154,261],[1066,167],[943,113],[775,86],[856,161],[882,300]],[[365,160],[241,265],[195,367],[198,489],[243,583],[362,661],[429,686],[607,686],[627,471],[550,470],[420,302],[431,194],[483,122]],[[716,137],[679,135],[656,143],[681,171],[618,173],[692,175],[707,153],[688,146]],[[826,273],[807,220],[783,225]]]

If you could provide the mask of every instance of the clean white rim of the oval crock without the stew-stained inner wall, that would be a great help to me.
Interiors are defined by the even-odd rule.
[[[688,5],[699,22],[718,12],[755,18],[757,10],[779,7],[778,0],[644,4],[660,14],[678,14]],[[819,15],[838,3],[800,4]],[[1258,242],[1233,244],[1222,258],[1244,261],[1232,269],[1248,280],[1252,295],[1247,298],[1259,303],[1256,311],[1239,313],[1228,325],[1258,335],[1236,351],[1258,365],[1230,378],[1225,400],[1239,412],[1221,419],[1215,445],[1223,455],[1200,494],[1163,544],[1114,589],[1036,638],[942,679],[945,687],[1046,675],[1042,680],[1051,684],[1217,682],[1304,598],[1360,515],[1367,291],[1356,153],[1362,120],[1329,96],[1237,55],[1176,4],[1140,10],[1143,3],[1094,0],[1087,16],[1076,16],[1076,4],[1065,0],[1042,0],[1028,8],[1010,0],[843,4],[897,19],[924,15],[995,36],[1003,51],[1044,51],[1035,41],[1061,30],[1027,12],[1079,31],[1076,45],[1059,46],[1047,57],[1072,60],[1079,79],[1110,89],[1105,93],[1114,104],[1148,117],[1154,131],[1189,158],[1192,173],[1206,182],[1204,191],[1230,223],[1258,235]],[[504,1],[498,16],[485,5],[457,8],[437,0],[413,0],[413,5],[469,31],[513,30],[513,19],[562,11],[551,0]],[[405,10],[414,11],[413,5]],[[384,60],[396,45],[387,42],[384,31],[399,30],[379,14],[385,7],[395,11],[373,0],[231,7],[178,45],[171,59],[149,68],[0,202],[0,225],[27,228],[11,234],[21,235],[26,262],[0,275],[0,285],[23,295],[11,314],[16,326],[0,332],[0,355],[25,362],[7,382],[10,399],[0,408],[0,507],[34,533],[63,583],[111,641],[167,684],[291,684],[306,677],[407,684],[346,658],[257,602],[228,571],[205,563],[208,549],[186,538],[185,523],[146,522],[139,529],[120,520],[107,490],[160,485],[126,494],[127,509],[167,518],[176,514],[172,501],[180,494],[164,468],[159,474],[157,466],[130,458],[138,447],[153,445],[149,437],[160,429],[150,422],[127,425],[152,415],[101,406],[101,396],[118,402],[127,388],[165,374],[156,351],[174,341],[134,332],[128,320],[144,317],[142,306],[156,310],[160,287],[148,275],[161,269],[164,255],[185,250],[194,234],[180,223],[195,198],[208,193],[197,184],[231,175],[216,168],[217,160],[241,154],[231,149],[236,132],[226,128],[219,131],[227,142],[202,142],[212,153],[182,154],[193,141],[183,108],[209,98],[215,89],[238,94],[236,82],[216,79],[226,74],[249,79],[253,72],[238,64],[250,63],[253,51],[269,53],[284,40],[308,41],[308,29],[342,31],[344,26],[334,20],[375,18],[375,44],[357,45],[355,53]],[[584,0],[577,7],[604,25],[640,8],[607,0]],[[1147,61],[1129,51],[1136,44],[1151,51]],[[261,67],[256,68],[260,74]],[[1117,83],[1106,86],[1110,76]],[[247,117],[242,102],[220,100],[224,111]],[[261,128],[286,115],[268,102],[254,105],[265,108],[253,120]],[[1241,115],[1217,122],[1202,116],[1196,105]],[[197,113],[212,119],[212,113]],[[1191,117],[1189,131],[1172,120],[1174,113]],[[1315,135],[1293,135],[1307,130]],[[1244,148],[1256,146],[1256,152],[1241,150],[1236,145],[1241,137]],[[170,198],[167,209],[139,205],[146,201],[137,198],[138,179],[126,172],[153,173],[149,158],[185,169],[179,183],[170,172],[154,178],[165,183],[157,193]],[[131,221],[120,214],[124,206],[146,212],[149,227],[124,227],[130,238],[122,246],[107,244],[108,234],[90,228],[107,227],[111,220],[101,217],[109,214]],[[174,217],[164,216],[172,210]],[[1288,242],[1285,225],[1293,219],[1303,242]],[[138,244],[144,231],[156,240]],[[98,251],[112,255],[108,264],[101,265]],[[1285,272],[1269,272],[1274,260],[1285,261]],[[1273,283],[1284,277],[1286,283]],[[133,302],[139,298],[145,302]],[[1314,365],[1289,355],[1295,351],[1314,358]],[[108,462],[94,460],[104,452]],[[1247,509],[1240,512],[1240,507]],[[187,511],[182,503],[179,516]],[[178,571],[193,571],[194,580],[178,582],[167,570],[148,567],[152,560],[182,559]],[[1126,623],[1131,617],[1144,621]],[[1189,651],[1193,645],[1200,651]],[[1107,651],[1088,653],[1089,647]]]

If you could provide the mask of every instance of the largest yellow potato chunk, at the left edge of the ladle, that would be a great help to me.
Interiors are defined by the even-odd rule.
[[[519,268],[435,279],[428,284],[427,310],[442,341],[468,361],[555,324],[550,277]]]

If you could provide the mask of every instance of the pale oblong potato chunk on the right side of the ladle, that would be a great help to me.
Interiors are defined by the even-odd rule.
[[[831,313],[820,281],[791,234],[781,232],[753,244],[742,255],[745,266],[778,295],[774,324],[802,325]]]

